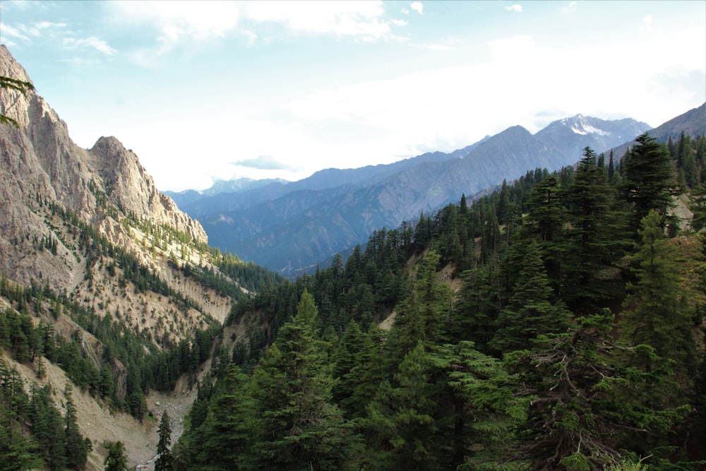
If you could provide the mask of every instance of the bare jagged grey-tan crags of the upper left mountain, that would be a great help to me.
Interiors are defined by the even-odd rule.
[[[31,83],[2,45],[0,76]],[[124,242],[124,234],[97,201],[99,194],[122,213],[147,217],[207,242],[201,224],[157,191],[137,156],[116,138],[102,137],[90,150],[79,148],[69,138],[66,123],[34,91],[23,95],[2,89],[0,113],[20,125],[0,125],[0,272],[20,282],[48,279],[59,289],[71,286],[80,263],[77,257],[62,244],[58,256],[36,250],[37,241],[52,233],[37,211],[47,201],[76,213],[114,243]]]

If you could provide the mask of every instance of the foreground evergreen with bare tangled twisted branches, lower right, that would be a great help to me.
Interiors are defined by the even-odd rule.
[[[517,458],[530,470],[602,469],[621,459],[626,440],[664,434],[683,415],[652,392],[669,369],[638,366],[635,358],[654,350],[616,345],[613,319],[607,309],[578,318],[568,333],[542,336],[536,350],[510,354],[529,406]]]

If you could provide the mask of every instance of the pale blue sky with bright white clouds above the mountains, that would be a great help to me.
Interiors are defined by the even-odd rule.
[[[115,136],[162,191],[706,102],[704,0],[0,0],[0,43],[74,142]]]

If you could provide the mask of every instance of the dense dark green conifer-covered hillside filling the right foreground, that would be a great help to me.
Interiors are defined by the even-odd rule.
[[[585,148],[265,285],[232,310],[226,331],[249,340],[220,352],[162,455],[177,470],[702,469],[705,163],[703,136]]]

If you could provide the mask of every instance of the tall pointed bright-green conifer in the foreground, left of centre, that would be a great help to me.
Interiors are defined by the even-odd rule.
[[[313,297],[304,290],[297,316],[253,374],[253,396],[263,419],[258,465],[267,469],[340,470],[355,467],[359,437],[330,403],[333,379],[316,340]]]

